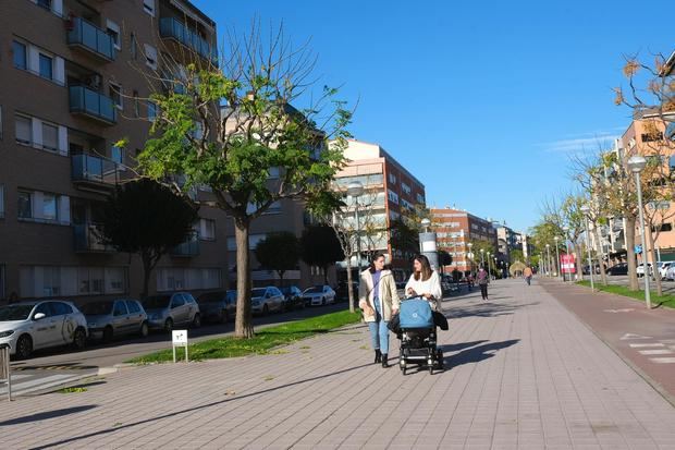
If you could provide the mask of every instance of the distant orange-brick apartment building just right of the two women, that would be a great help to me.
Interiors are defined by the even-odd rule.
[[[490,220],[450,207],[431,208],[430,211],[438,248],[444,250],[453,257],[452,266],[445,268],[447,273],[455,269],[470,270],[471,264],[480,263],[480,255],[474,255],[472,262],[468,258],[469,242],[484,241],[496,248],[496,230]]]

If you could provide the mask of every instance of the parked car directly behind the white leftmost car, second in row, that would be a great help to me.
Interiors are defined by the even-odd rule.
[[[81,311],[87,319],[89,338],[110,342],[122,335],[148,336],[148,315],[135,300],[91,302],[83,305]]]

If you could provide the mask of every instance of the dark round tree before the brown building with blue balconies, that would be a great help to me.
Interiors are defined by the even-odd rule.
[[[187,198],[152,180],[139,179],[118,186],[108,198],[99,238],[118,252],[140,256],[140,296],[145,297],[159,259],[185,241],[198,218],[197,208]]]

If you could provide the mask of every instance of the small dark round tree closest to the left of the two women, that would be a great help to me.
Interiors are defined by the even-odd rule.
[[[328,284],[328,268],[344,258],[335,231],[327,224],[307,227],[300,238],[300,257],[305,263],[323,269],[326,284]]]

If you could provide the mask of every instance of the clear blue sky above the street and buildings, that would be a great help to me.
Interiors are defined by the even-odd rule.
[[[569,155],[629,124],[611,88],[624,53],[675,50],[672,2],[194,0],[220,33],[284,21],[311,38],[320,84],[344,85],[351,131],[427,188],[517,230],[567,192]],[[549,4],[551,3],[551,4]]]

